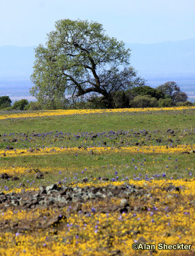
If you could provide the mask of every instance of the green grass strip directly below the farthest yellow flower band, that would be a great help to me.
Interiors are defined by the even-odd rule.
[[[1,116],[1,114],[0,114]],[[104,132],[128,129],[155,130],[194,128],[194,109],[132,113],[95,113],[90,115],[46,116],[1,120],[0,134],[11,132]]]

